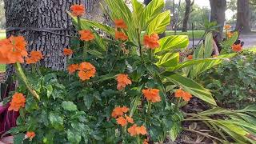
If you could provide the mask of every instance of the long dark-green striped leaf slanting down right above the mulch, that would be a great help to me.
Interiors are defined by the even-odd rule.
[[[181,86],[182,89],[186,90],[195,97],[200,98],[214,106],[217,106],[214,98],[210,94],[210,90],[205,89],[197,82],[194,82],[192,79],[171,72],[166,72],[162,74],[162,76],[166,78],[166,82],[173,82],[175,85]]]

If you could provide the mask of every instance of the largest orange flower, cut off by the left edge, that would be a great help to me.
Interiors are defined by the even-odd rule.
[[[22,36],[0,40],[0,63],[12,64],[16,62],[24,62],[27,57],[26,41]]]

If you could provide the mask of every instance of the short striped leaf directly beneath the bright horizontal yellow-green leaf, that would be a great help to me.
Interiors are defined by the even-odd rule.
[[[156,63],[156,65],[164,66],[164,67],[175,67],[178,65],[178,62],[179,62],[179,53],[167,53],[162,57],[159,57],[159,60]]]

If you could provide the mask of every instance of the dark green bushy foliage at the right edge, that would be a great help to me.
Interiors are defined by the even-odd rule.
[[[255,52],[244,50],[199,78],[222,106],[242,108],[256,98]]]

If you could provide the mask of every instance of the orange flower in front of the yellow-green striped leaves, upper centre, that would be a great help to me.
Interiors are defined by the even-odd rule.
[[[160,46],[158,39],[158,34],[144,35],[143,42],[147,48],[154,50],[155,48]]]

